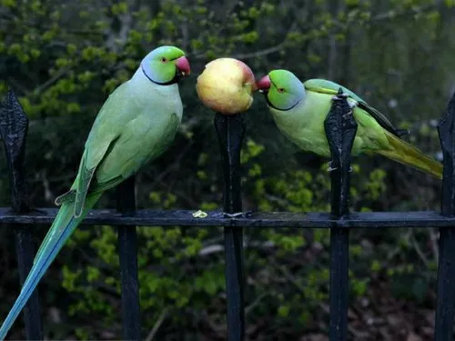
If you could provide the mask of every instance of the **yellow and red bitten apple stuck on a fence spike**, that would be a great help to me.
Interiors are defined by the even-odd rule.
[[[196,91],[204,105],[223,115],[248,110],[256,90],[255,76],[245,63],[218,58],[206,65],[197,77]]]

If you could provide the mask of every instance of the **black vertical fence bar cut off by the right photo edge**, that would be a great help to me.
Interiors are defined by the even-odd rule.
[[[455,94],[438,125],[444,156],[441,214],[455,216]],[[440,260],[438,265],[438,297],[434,327],[436,341],[453,340],[455,315],[455,230],[440,228]]]

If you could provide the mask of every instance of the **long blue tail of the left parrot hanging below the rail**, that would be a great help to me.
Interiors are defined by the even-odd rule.
[[[45,271],[52,264],[60,249],[65,245],[66,239],[68,239],[76,226],[86,217],[86,214],[92,208],[98,198],[102,194],[96,194],[87,196],[86,205],[82,216],[75,218],[73,216],[75,206],[73,203],[64,204],[58,214],[51,228],[45,236],[43,244],[40,246],[36,253],[35,262],[30,270],[30,273],[25,279],[24,286],[22,287],[21,293],[15,300],[15,305],[10,310],[8,316],[0,328],[0,340],[5,340],[5,336],[9,329],[15,323],[15,319],[24,308],[30,296],[35,291],[35,287],[38,285],[39,280],[45,275]]]

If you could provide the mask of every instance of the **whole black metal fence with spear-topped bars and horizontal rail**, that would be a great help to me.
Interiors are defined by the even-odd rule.
[[[0,224],[15,227],[15,244],[21,286],[35,255],[33,226],[50,225],[56,209],[32,209],[23,173],[27,118],[9,90],[0,107],[0,133],[9,166],[12,208],[0,207]],[[441,212],[349,213],[350,150],[357,131],[346,97],[337,96],[325,122],[332,154],[331,213],[244,213],[240,189],[240,149],[245,134],[242,115],[215,116],[224,174],[224,210],[195,218],[192,211],[135,210],[134,177],[117,188],[116,210],[92,210],[85,225],[118,226],[124,337],[140,340],[140,306],[137,280],[135,226],[224,226],[227,288],[227,339],[245,338],[243,228],[330,228],[331,341],[348,337],[349,228],[439,227],[440,259],[434,338],[452,339],[455,307],[455,95],[438,127],[444,156]],[[35,294],[24,311],[27,339],[43,339],[40,306]]]

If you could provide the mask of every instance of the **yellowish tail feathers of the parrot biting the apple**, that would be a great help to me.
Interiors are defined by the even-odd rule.
[[[390,150],[377,151],[378,154],[391,158],[403,165],[409,165],[420,171],[430,174],[438,179],[442,179],[442,164],[429,155],[423,154],[418,148],[410,145],[399,137],[386,131]]]

